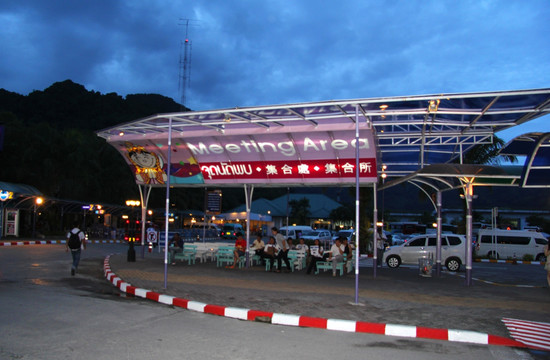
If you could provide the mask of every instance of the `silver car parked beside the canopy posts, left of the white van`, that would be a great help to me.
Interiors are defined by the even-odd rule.
[[[418,264],[418,259],[432,257],[435,261],[437,236],[434,234],[418,235],[404,244],[390,247],[384,252],[383,261],[390,268],[401,264]],[[459,271],[464,264],[466,238],[464,235],[441,235],[441,262],[449,271]]]

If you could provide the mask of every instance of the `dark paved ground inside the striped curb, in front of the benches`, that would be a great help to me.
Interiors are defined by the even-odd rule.
[[[510,337],[502,318],[550,322],[550,289],[542,265],[475,263],[472,286],[464,268],[423,277],[416,267],[378,268],[362,260],[355,273],[307,275],[266,272],[265,267],[226,269],[215,262],[168,265],[164,255],[136,248],[137,259],[113,254],[111,270],[133,286],[206,304],[282,314],[364,322],[470,330]],[[492,282],[492,283],[489,283]],[[527,287],[525,287],[527,286]]]

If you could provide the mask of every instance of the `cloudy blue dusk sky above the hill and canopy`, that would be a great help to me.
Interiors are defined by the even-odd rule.
[[[3,0],[0,88],[179,102],[184,19],[192,110],[550,87],[548,0]]]

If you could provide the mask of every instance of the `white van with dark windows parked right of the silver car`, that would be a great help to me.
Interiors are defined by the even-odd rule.
[[[477,239],[480,256],[521,260],[525,255],[532,255],[536,261],[546,260],[544,247],[548,240],[536,231],[482,229]]]

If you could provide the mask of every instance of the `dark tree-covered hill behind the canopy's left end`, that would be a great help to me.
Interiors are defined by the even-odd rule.
[[[0,89],[0,179],[49,197],[122,204],[137,196],[137,186],[120,154],[95,131],[175,111],[180,104],[161,95],[124,98],[71,80],[28,95]]]

